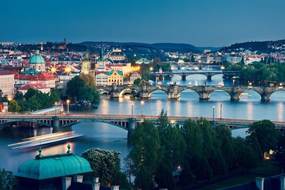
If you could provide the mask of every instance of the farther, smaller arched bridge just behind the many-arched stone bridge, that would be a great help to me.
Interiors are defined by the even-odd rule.
[[[205,75],[207,77],[207,80],[212,80],[212,76],[214,75],[224,75],[227,77],[233,77],[237,76],[239,74],[239,71],[222,71],[222,70],[185,70],[185,71],[169,71],[169,72],[150,72],[150,75],[154,75],[155,77],[165,77],[167,75],[173,76],[173,75],[180,75],[182,80],[186,80],[186,77],[188,75]]]

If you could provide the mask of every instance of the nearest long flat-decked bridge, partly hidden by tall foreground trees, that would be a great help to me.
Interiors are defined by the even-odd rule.
[[[135,125],[143,120],[150,120],[151,122],[157,122],[157,116],[151,115],[95,115],[95,114],[71,114],[71,115],[0,115],[0,125],[4,125],[11,122],[31,122],[38,125],[44,125],[48,127],[68,127],[76,125],[80,122],[103,122],[110,125],[115,125],[124,130],[131,132],[135,129]],[[182,125],[185,120],[192,119],[198,120],[199,117],[180,117],[180,116],[168,116],[168,120],[172,124]],[[248,127],[252,122],[256,120],[234,120],[234,119],[221,119],[221,118],[205,118],[214,125],[225,124],[232,129]],[[284,131],[285,122],[274,122],[278,130]]]

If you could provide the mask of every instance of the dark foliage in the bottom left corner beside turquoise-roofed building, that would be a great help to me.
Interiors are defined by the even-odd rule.
[[[16,189],[18,180],[13,175],[12,171],[6,171],[0,168],[0,190]]]

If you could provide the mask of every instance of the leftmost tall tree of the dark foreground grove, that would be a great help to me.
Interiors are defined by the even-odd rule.
[[[160,139],[157,128],[152,122],[145,120],[139,123],[130,135],[133,148],[128,154],[128,171],[135,176],[135,185],[142,189],[153,186],[152,174],[160,163]]]

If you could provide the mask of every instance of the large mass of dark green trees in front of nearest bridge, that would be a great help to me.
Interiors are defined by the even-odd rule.
[[[252,169],[262,151],[276,147],[280,133],[266,120],[254,122],[248,132],[246,139],[234,138],[226,125],[213,127],[203,118],[174,125],[162,110],[155,125],[145,120],[131,134],[133,149],[125,159],[126,171],[135,176],[137,188],[153,189],[156,183],[158,189],[176,189],[177,183],[187,186],[229,170]],[[279,147],[284,144],[279,141]],[[279,165],[285,165],[284,156],[280,160]]]

